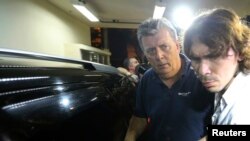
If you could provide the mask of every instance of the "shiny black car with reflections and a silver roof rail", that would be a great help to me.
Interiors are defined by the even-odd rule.
[[[123,140],[134,89],[112,66],[0,49],[0,140]]]

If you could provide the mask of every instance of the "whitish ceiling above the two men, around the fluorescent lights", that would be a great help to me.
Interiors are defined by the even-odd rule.
[[[89,22],[71,4],[74,0],[48,0],[66,13],[94,27],[137,28],[138,24],[152,17],[155,3],[166,5],[164,16],[171,20],[172,11],[178,5],[189,6],[194,13],[214,7],[231,8],[240,16],[250,15],[250,0],[84,0],[86,7],[101,19]]]

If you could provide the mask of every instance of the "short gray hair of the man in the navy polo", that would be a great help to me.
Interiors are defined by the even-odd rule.
[[[143,21],[137,30],[137,39],[139,41],[139,45],[142,50],[143,50],[141,41],[142,37],[155,35],[161,29],[167,29],[170,33],[170,36],[173,39],[178,40],[176,29],[174,28],[174,26],[171,24],[170,21],[168,21],[166,18],[161,18],[161,19],[149,18]]]

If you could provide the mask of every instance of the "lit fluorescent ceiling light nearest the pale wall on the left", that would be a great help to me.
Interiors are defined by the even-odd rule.
[[[98,22],[99,19],[92,14],[84,5],[76,5],[73,4],[73,6],[80,11],[86,18],[88,18],[91,22]]]

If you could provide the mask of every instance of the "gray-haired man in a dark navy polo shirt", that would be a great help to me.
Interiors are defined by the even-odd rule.
[[[147,133],[150,141],[195,141],[206,134],[213,95],[180,53],[175,28],[165,18],[147,19],[137,37],[150,63],[139,82],[125,141]]]

